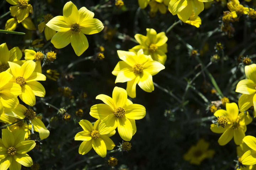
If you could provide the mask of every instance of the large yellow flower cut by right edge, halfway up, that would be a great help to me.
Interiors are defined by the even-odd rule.
[[[251,106],[254,106],[256,111],[256,64],[245,66],[245,80],[238,82],[236,86],[236,92],[242,93],[239,97],[238,105],[241,112],[246,111]]]

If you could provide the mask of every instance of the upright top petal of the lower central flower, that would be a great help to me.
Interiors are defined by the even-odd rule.
[[[116,107],[123,108],[127,102],[127,92],[123,88],[114,87],[112,98]]]

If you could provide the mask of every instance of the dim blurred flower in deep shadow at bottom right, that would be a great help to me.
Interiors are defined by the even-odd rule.
[[[200,139],[196,146],[191,146],[187,153],[183,155],[183,159],[190,161],[191,164],[200,165],[206,158],[212,158],[215,151],[209,148],[210,143],[204,139]]]

